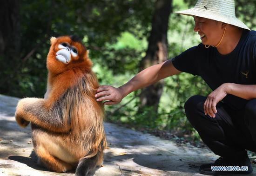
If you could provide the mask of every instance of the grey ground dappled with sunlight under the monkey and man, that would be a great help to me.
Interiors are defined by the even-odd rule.
[[[55,173],[36,164],[30,127],[21,129],[14,113],[19,98],[0,95],[0,176],[74,176]],[[211,151],[163,140],[105,123],[108,149],[95,176],[203,176],[198,167],[218,158]],[[251,158],[253,160],[255,158]],[[251,176],[256,175],[256,166]]]

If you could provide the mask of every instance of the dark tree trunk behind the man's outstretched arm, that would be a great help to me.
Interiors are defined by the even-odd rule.
[[[141,60],[140,70],[151,65],[162,63],[168,59],[167,31],[171,10],[172,0],[157,0],[155,2],[152,30],[148,38],[148,50],[146,56]],[[141,113],[144,108],[150,108],[153,112],[157,113],[163,85],[164,82],[161,80],[142,90],[140,97],[141,104],[138,110],[139,113]]]

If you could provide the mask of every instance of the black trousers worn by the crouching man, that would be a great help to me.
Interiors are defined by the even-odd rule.
[[[256,99],[250,100],[242,111],[219,102],[215,118],[204,114],[205,100],[206,97],[195,95],[184,106],[189,122],[202,141],[223,157],[242,158],[247,155],[246,150],[256,152]]]

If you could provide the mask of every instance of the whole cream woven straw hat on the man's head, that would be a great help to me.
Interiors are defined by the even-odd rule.
[[[174,13],[221,21],[250,30],[249,27],[236,18],[234,0],[197,0],[194,8]]]

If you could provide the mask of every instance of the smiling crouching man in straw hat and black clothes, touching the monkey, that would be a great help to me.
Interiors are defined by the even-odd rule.
[[[96,100],[117,104],[162,78],[181,72],[199,75],[213,91],[208,97],[189,98],[186,116],[203,142],[221,156],[200,166],[200,172],[249,174],[252,166],[246,150],[256,152],[256,31],[236,19],[234,0],[198,0],[194,8],[176,13],[194,17],[194,31],[202,43],[148,67],[119,88],[99,87]],[[211,166],[237,167],[215,171]]]

